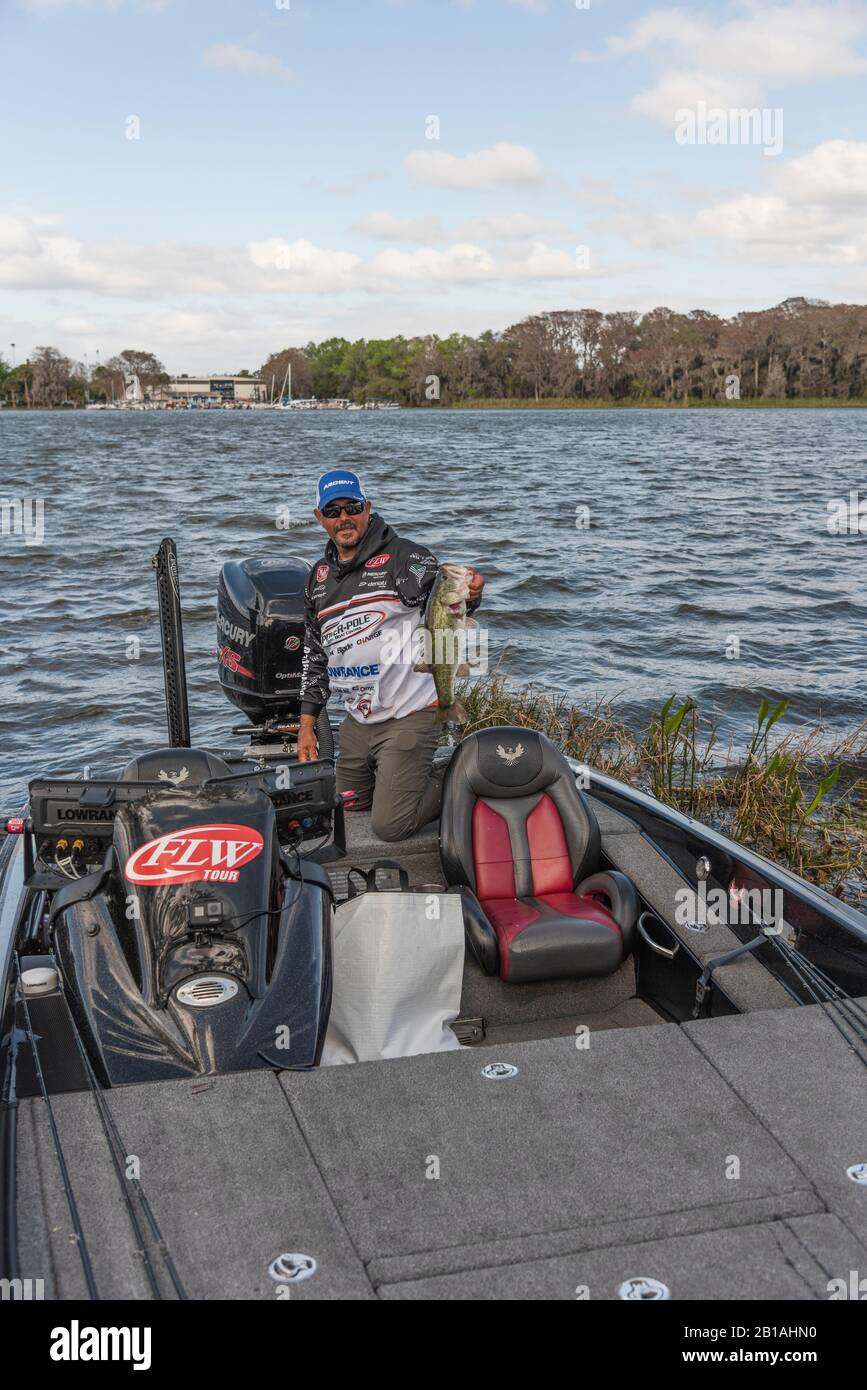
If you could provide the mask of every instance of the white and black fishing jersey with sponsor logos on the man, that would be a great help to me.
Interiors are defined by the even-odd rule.
[[[434,677],[413,663],[438,567],[427,546],[402,539],[377,513],[346,564],[328,542],[306,588],[302,714],[318,714],[331,691],[367,724],[436,703]]]

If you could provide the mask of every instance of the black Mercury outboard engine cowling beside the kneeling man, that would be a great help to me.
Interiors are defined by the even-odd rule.
[[[220,571],[220,684],[254,724],[300,713],[308,573],[293,556],[228,560]]]

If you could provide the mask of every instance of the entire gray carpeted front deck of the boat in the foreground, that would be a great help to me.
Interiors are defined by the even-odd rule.
[[[292,1298],[827,1298],[867,1269],[863,1095],[818,1008],[107,1093],[188,1293],[226,1300],[275,1298],[283,1251],[318,1261]],[[100,1294],[146,1297],[93,1104],[54,1106]],[[21,1273],[76,1297],[44,1106],[19,1111]]]

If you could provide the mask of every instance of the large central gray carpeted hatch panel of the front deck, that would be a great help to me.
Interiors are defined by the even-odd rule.
[[[482,1066],[518,1066],[489,1081]],[[283,1074],[361,1257],[479,1244],[809,1182],[677,1026]],[[371,1115],[377,1123],[371,1125]],[[725,1176],[727,1155],[742,1176]],[[425,1179],[428,1156],[439,1180]]]

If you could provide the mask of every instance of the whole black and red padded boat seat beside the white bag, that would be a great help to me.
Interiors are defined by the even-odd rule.
[[[631,954],[632,881],[600,872],[600,835],[568,762],[535,730],[484,728],[443,781],[439,847],[468,945],[510,984],[611,974]]]

